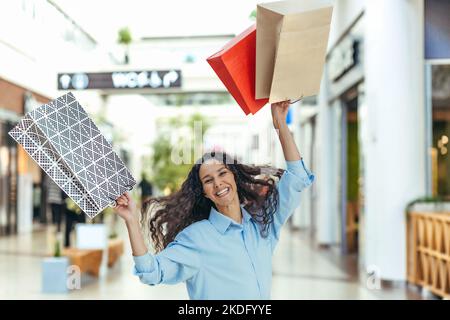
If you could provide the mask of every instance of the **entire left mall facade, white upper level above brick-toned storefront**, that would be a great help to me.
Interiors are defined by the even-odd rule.
[[[61,65],[95,64],[108,55],[96,51],[95,40],[51,2],[3,1],[0,21],[0,236],[5,236],[52,222],[44,174],[8,131],[57,96]],[[95,101],[95,95],[85,97]]]

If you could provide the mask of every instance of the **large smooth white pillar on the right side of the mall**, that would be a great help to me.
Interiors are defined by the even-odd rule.
[[[423,0],[366,2],[367,267],[405,280],[405,207],[425,195]]]

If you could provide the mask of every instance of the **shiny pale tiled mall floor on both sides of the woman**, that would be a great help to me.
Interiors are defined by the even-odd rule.
[[[122,236],[125,236],[122,230]],[[50,229],[0,238],[0,299],[187,299],[184,284],[150,287],[131,273],[130,246],[105,277],[84,276],[80,290],[41,293],[41,261],[48,252]],[[308,236],[285,230],[273,259],[272,299],[420,299],[413,290],[369,290],[342,256],[313,249]]]

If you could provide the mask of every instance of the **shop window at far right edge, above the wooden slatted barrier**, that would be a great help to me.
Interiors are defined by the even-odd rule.
[[[450,2],[425,1],[428,194],[450,198]]]

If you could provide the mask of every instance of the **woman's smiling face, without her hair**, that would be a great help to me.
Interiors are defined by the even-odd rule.
[[[237,186],[234,174],[223,163],[215,159],[200,166],[200,181],[205,197],[217,207],[230,205],[237,199]]]

